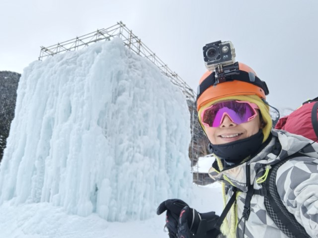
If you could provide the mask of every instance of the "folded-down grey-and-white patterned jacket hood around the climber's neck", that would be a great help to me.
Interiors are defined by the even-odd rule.
[[[267,165],[277,164],[296,152],[304,154],[304,156],[317,157],[318,143],[311,145],[312,140],[284,130],[273,129],[271,133],[270,142],[254,157],[221,172],[212,167],[209,170],[209,176],[233,185],[242,192],[247,192],[248,186],[253,183],[255,178],[263,176],[264,168]]]

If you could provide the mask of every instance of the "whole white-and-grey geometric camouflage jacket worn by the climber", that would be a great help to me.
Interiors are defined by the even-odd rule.
[[[256,156],[234,168],[222,172],[210,170],[210,176],[234,185],[239,192],[236,200],[237,218],[240,220],[244,209],[249,184],[254,189],[262,187],[256,179],[264,174],[265,165],[273,165],[296,152],[304,157],[288,160],[277,171],[276,186],[283,204],[294,214],[296,220],[305,228],[307,234],[318,238],[318,143],[283,130],[272,130],[270,142]],[[305,149],[302,150],[307,146]],[[246,181],[246,170],[250,170],[250,181]],[[232,183],[232,184],[231,184]],[[228,197],[231,197],[229,190]],[[228,214],[228,221],[231,214]],[[230,225],[230,226],[233,226]],[[266,212],[264,196],[253,195],[250,202],[250,215],[238,224],[237,238],[286,238]]]

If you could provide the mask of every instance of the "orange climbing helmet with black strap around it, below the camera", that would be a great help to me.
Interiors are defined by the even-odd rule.
[[[211,101],[229,96],[257,95],[266,99],[266,95],[269,93],[267,85],[257,77],[253,69],[240,62],[236,62],[230,67],[225,68],[222,73],[218,73],[216,70],[203,74],[197,92],[198,111]]]

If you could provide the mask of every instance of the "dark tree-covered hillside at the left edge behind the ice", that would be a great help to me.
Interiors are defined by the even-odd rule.
[[[0,71],[0,161],[14,118],[16,90],[20,77],[21,74],[16,72]]]

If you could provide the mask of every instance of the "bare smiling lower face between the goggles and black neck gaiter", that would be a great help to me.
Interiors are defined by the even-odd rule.
[[[254,119],[241,124],[234,123],[225,115],[219,127],[204,126],[204,128],[210,142],[214,145],[220,145],[250,137],[256,134],[262,126],[258,112]]]

